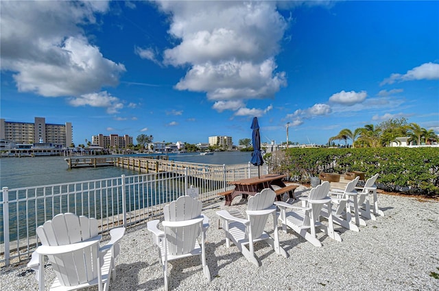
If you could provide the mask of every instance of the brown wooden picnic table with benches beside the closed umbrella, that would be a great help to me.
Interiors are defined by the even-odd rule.
[[[278,186],[281,188],[276,190],[276,200],[281,200],[281,194],[285,192],[289,193],[289,198],[296,199],[296,197],[294,197],[294,190],[298,186],[286,186],[282,181],[282,179],[286,176],[287,175],[263,175],[261,177],[253,177],[228,182],[228,184],[235,185],[235,189],[224,192],[224,197],[226,197],[226,206],[230,206],[233,199],[238,195],[242,195],[243,199],[247,199],[248,195],[253,196],[265,188],[274,190],[272,186]]]

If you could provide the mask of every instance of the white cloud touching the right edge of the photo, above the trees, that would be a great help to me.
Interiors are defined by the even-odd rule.
[[[439,79],[439,64],[428,62],[412,68],[404,75],[393,73],[390,77],[381,82],[381,86],[385,84],[393,84],[395,81],[413,81],[413,80],[435,80]]]

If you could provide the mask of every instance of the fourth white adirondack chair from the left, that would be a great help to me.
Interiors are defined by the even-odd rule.
[[[329,182],[324,181],[316,188],[311,189],[309,197],[301,199],[302,206],[292,205],[283,201],[274,202],[281,210],[279,219],[282,222],[283,231],[287,232],[288,226],[314,246],[322,246],[322,242],[316,236],[316,229],[320,229],[320,231],[326,233],[333,240],[341,242],[342,238],[334,231],[331,214],[327,217],[328,225],[320,223],[322,207],[324,205],[331,207],[331,198],[328,197],[328,193]],[[294,210],[287,212],[287,209]]]

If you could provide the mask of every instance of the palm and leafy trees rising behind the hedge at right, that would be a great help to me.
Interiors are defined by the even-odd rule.
[[[399,144],[396,138],[407,138],[412,144],[431,144],[438,141],[438,136],[433,129],[425,129],[416,123],[407,123],[405,118],[390,118],[379,125],[365,125],[354,131],[342,129],[336,136],[328,140],[331,145],[334,140],[344,140],[345,147],[348,140],[352,141],[353,147],[389,147],[392,142]]]

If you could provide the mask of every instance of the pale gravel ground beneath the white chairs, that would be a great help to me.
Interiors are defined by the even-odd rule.
[[[300,186],[297,194],[305,196]],[[237,201],[238,199],[236,199]],[[235,203],[235,201],[234,201]],[[278,230],[288,258],[277,255],[270,246],[255,246],[259,268],[248,262],[232,245],[226,248],[224,231],[218,229],[215,212],[246,205],[224,206],[224,201],[204,204],[209,216],[206,259],[211,282],[202,274],[199,257],[171,262],[170,290],[439,290],[439,203],[410,197],[379,194],[385,216],[368,220],[359,233],[340,231],[342,242],[324,233],[318,248],[291,229]],[[267,231],[272,233],[272,223]],[[1,268],[0,290],[37,290],[34,273],[23,262]],[[54,278],[46,268],[46,285]],[[437,278],[437,276],[436,276]],[[97,288],[88,288],[97,290]],[[110,290],[164,290],[163,273],[157,250],[146,224],[127,229],[117,258],[117,278]]]

